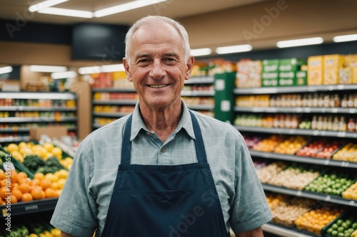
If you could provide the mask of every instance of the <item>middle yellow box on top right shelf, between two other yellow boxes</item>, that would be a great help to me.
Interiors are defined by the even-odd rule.
[[[344,57],[338,54],[323,56],[323,84],[334,85],[339,82],[339,73],[343,68]]]

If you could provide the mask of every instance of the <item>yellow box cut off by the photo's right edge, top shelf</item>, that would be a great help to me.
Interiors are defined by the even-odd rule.
[[[350,54],[344,57],[344,65],[343,68],[340,68],[338,83],[357,83],[357,54]]]

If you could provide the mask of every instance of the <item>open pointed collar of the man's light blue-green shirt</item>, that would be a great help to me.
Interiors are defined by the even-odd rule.
[[[195,139],[196,137],[193,132],[190,112],[188,112],[188,107],[186,106],[185,102],[183,102],[183,100],[181,100],[181,102],[182,102],[182,107],[183,107],[183,113],[182,113],[180,122],[178,122],[178,126],[176,127],[175,133],[179,132],[181,130],[181,128],[183,128],[190,137]],[[135,126],[133,126],[133,125],[135,125]],[[135,105],[135,109],[133,112],[133,118],[132,118],[131,136],[130,136],[131,141],[137,135],[139,135],[140,130],[144,130],[146,132],[151,132],[148,130],[148,128],[144,124],[143,119],[141,118],[139,102],[137,102]]]

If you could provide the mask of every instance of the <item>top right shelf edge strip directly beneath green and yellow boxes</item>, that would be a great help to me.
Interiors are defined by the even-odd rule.
[[[317,91],[357,90],[357,84],[353,85],[300,85],[274,88],[236,88],[236,95],[261,95],[278,93],[309,93]]]

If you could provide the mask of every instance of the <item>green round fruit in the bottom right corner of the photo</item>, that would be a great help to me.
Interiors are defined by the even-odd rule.
[[[357,230],[357,216],[346,212],[329,223],[322,230],[322,236],[326,237],[350,237]]]

